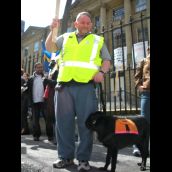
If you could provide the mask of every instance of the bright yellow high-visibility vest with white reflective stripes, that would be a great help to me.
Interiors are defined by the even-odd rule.
[[[104,38],[89,34],[78,43],[75,32],[64,34],[61,58],[59,59],[58,82],[87,83],[98,72],[102,59],[100,50]]]

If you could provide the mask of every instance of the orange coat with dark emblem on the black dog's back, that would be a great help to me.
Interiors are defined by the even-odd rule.
[[[117,119],[115,123],[115,134],[139,134],[136,124],[130,119]]]

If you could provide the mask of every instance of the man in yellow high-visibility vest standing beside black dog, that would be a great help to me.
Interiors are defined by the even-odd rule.
[[[53,19],[51,32],[46,40],[46,49],[51,50],[52,30],[59,21]],[[90,113],[97,111],[95,83],[104,79],[109,71],[111,57],[104,38],[91,33],[92,22],[88,12],[81,12],[74,22],[75,32],[56,38],[61,57],[58,60],[59,74],[55,91],[56,134],[59,159],[54,168],[66,168],[75,158],[75,116],[77,117],[79,146],[76,159],[78,171],[90,170],[88,161],[92,152],[92,132],[85,126]]]

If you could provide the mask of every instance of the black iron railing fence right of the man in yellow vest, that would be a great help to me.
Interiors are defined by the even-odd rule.
[[[111,24],[109,29],[103,27],[102,32],[97,33],[105,38],[111,50],[112,68],[102,83],[106,112],[110,114],[140,112],[140,96],[135,88],[134,75],[140,60],[146,57],[146,48],[149,46],[148,19],[141,13],[134,20],[130,17],[127,24],[121,20],[119,26]],[[98,108],[102,110],[100,87],[97,88],[97,96]]]

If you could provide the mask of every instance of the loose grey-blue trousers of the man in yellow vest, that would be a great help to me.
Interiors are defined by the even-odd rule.
[[[88,161],[91,157],[93,137],[85,121],[90,113],[97,111],[94,85],[64,86],[55,91],[55,117],[58,157]],[[79,146],[75,152],[75,116],[77,117]]]

